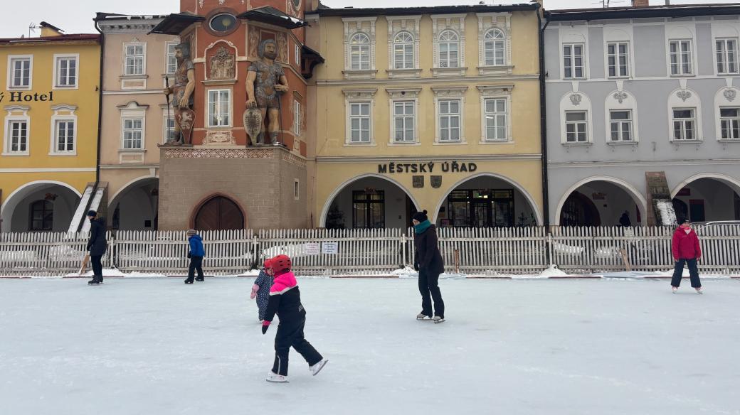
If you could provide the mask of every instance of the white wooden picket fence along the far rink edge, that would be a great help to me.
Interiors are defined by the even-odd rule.
[[[673,267],[664,227],[442,228],[437,230],[447,272],[536,274],[557,264],[572,274]],[[702,273],[740,274],[740,227],[699,230]],[[104,267],[122,272],[183,275],[185,231],[117,231],[108,234]],[[411,229],[226,230],[201,233],[209,275],[238,275],[281,253],[302,275],[383,275],[414,263]],[[0,275],[67,275],[77,272],[87,235],[0,233]],[[549,257],[549,261],[548,261]]]

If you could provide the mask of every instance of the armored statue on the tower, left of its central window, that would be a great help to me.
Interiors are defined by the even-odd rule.
[[[175,113],[175,131],[169,133],[169,145],[190,145],[195,112],[193,90],[195,89],[195,65],[190,59],[190,44],[184,42],[175,46],[175,58],[178,69],[175,71],[175,84],[164,89],[164,94],[172,100],[169,102]]]

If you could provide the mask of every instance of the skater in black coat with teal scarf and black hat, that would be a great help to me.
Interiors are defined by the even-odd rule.
[[[445,262],[437,247],[437,230],[429,222],[426,210],[414,213],[414,270],[419,271],[421,312],[419,320],[431,318],[431,301],[434,300],[434,323],[445,320],[445,302],[440,292],[440,274],[445,271]]]

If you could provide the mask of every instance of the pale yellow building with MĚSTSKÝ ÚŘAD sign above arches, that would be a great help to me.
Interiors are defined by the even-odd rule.
[[[313,225],[542,224],[537,13],[314,7]]]

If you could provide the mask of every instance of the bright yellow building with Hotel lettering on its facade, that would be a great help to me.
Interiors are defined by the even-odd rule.
[[[66,231],[95,182],[99,35],[0,39],[0,227]]]

